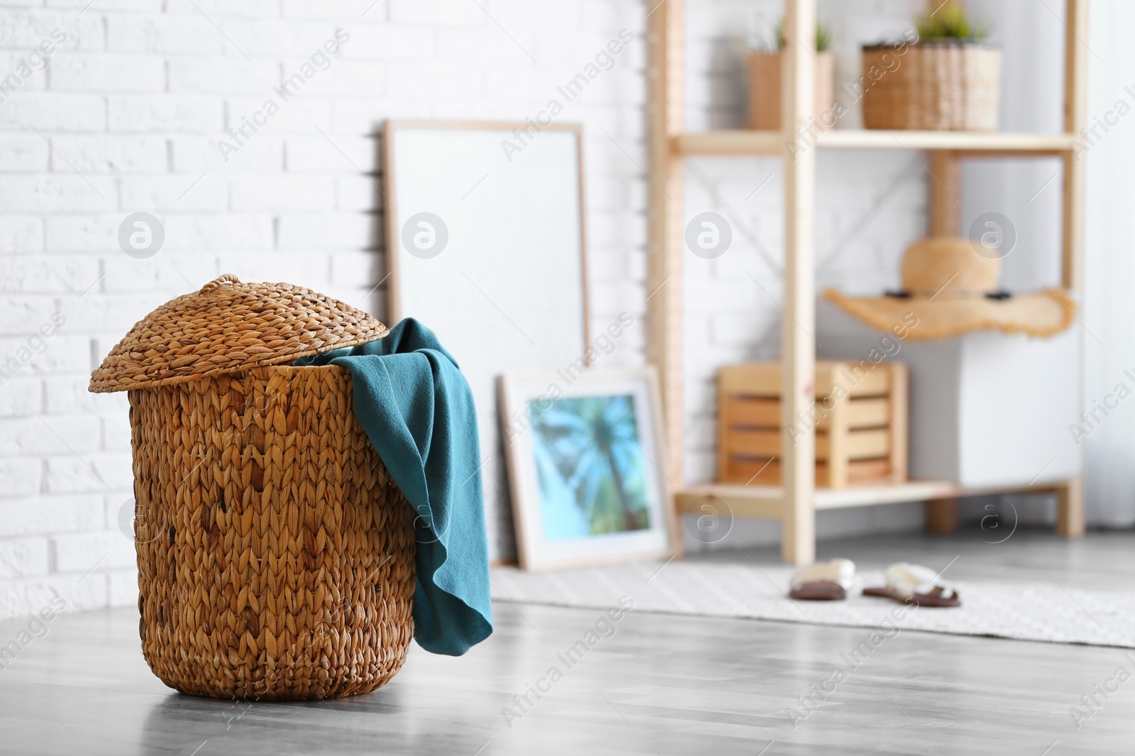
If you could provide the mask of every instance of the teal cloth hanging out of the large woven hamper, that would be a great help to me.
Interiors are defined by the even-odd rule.
[[[297,360],[351,371],[354,410],[418,517],[414,639],[460,656],[493,632],[477,410],[453,356],[406,318],[389,335]]]

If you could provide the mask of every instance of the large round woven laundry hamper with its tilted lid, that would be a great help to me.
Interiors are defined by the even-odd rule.
[[[142,653],[183,693],[373,690],[413,636],[413,510],[352,409],[351,374],[289,363],[387,333],[233,275],[150,313],[91,391],[128,391]]]

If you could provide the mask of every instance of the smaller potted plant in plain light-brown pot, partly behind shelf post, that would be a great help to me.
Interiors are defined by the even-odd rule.
[[[835,58],[832,33],[826,24],[816,24],[816,119],[832,108],[835,91]],[[781,82],[783,80],[784,24],[776,28],[774,52],[749,53],[749,128],[780,130]]]

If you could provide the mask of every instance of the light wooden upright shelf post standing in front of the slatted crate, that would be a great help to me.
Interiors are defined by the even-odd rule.
[[[813,416],[816,372],[816,282],[814,220],[816,152],[816,0],[787,0],[783,92],[784,141],[784,318],[781,326],[782,482],[781,554],[806,564],[816,557],[816,432]]]

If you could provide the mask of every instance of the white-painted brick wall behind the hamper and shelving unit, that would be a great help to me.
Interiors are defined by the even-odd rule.
[[[521,119],[624,27],[637,36],[629,53],[562,118],[586,126],[591,316],[602,325],[634,314],[639,325],[611,362],[642,362],[648,179],[634,162],[647,162],[645,8],[480,5],[100,0],[84,10],[87,0],[0,0],[0,77],[52,29],[66,34],[47,70],[0,102],[0,362],[53,313],[66,317],[0,387],[0,618],[36,609],[51,591],[81,608],[134,601],[133,547],[117,525],[131,495],[125,397],[94,397],[85,384],[138,317],[222,272],[291,280],[381,315],[381,291],[368,291],[384,267],[371,184],[382,120]],[[748,0],[688,6],[689,127],[739,125],[745,43],[765,36],[772,19]],[[851,76],[855,44],[901,28],[920,2],[822,6],[851,35],[840,58],[841,75]],[[226,129],[336,28],[351,40],[330,68],[221,160]],[[822,159],[818,253],[833,261],[822,283],[877,288],[894,275],[902,243],[923,222],[924,179],[910,168],[902,154]],[[774,162],[691,164],[689,214],[714,209],[738,227],[725,257],[688,260],[693,477],[711,468],[713,371],[776,354],[780,206]],[[149,260],[117,245],[119,223],[137,211],[166,229]],[[490,518],[495,557],[511,551],[507,519]]]

